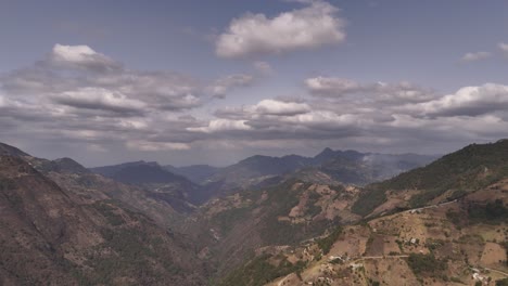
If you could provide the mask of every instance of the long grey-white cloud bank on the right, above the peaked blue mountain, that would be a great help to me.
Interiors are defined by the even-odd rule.
[[[306,86],[314,96],[221,107],[216,118],[191,130],[219,142],[217,146],[297,142],[432,152],[435,142],[496,140],[508,128],[508,93],[501,84],[466,87],[444,95],[405,81],[363,83],[318,77],[306,80]]]

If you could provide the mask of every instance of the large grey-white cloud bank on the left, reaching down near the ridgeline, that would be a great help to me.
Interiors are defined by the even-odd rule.
[[[0,76],[0,133],[90,152],[183,151],[204,138],[187,130],[203,126],[188,112],[252,81],[242,74],[204,82],[128,69],[88,46],[55,44],[33,65]]]

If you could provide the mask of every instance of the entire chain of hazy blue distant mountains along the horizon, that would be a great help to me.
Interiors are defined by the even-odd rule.
[[[217,168],[208,165],[160,166],[155,161],[132,161],[90,170],[123,183],[142,186],[186,209],[186,202],[201,205],[240,190],[277,185],[289,178],[317,183],[364,185],[420,167],[433,156],[372,154],[326,148],[315,157],[255,155]]]

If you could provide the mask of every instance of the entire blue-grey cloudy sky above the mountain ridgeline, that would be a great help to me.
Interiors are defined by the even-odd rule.
[[[87,167],[508,136],[508,2],[0,0],[0,142]]]

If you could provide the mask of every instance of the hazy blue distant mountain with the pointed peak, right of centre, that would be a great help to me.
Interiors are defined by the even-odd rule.
[[[322,176],[338,183],[365,185],[392,178],[421,167],[434,156],[417,154],[374,154],[325,148],[315,157],[288,155],[283,157],[252,156],[218,170],[203,183],[215,187],[209,192],[249,188],[280,176],[320,181]]]

